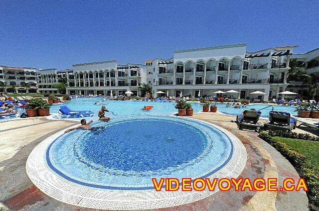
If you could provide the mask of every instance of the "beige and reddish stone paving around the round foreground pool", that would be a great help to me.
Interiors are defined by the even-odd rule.
[[[294,167],[271,145],[257,137],[256,132],[238,130],[231,122],[234,116],[200,112],[192,118],[207,121],[236,135],[247,150],[247,163],[240,177],[299,179]],[[263,120],[261,120],[263,121]],[[0,122],[0,211],[2,210],[63,210],[87,211],[52,199],[38,190],[25,172],[25,162],[31,150],[50,135],[77,125],[72,120],[51,120],[46,117]],[[295,132],[305,132],[300,129]],[[279,183],[280,184],[280,183]],[[308,199],[300,192],[218,192],[203,200],[158,211],[275,211],[308,210]]]

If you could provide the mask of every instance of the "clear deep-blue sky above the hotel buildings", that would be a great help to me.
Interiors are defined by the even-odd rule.
[[[141,64],[170,58],[176,49],[244,42],[249,51],[319,47],[318,0],[0,0],[0,8],[0,64],[6,66]]]

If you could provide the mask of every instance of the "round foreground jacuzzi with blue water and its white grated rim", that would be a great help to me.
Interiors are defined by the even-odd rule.
[[[236,178],[247,159],[238,138],[190,118],[126,116],[91,125],[100,129],[61,131],[29,155],[27,174],[48,196],[97,209],[177,206],[218,188],[156,191],[152,178]]]

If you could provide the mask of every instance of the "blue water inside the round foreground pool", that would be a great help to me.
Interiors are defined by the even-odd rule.
[[[92,126],[105,129],[63,134],[45,159],[59,177],[94,189],[154,190],[154,177],[207,177],[233,153],[222,131],[191,119],[135,115]]]

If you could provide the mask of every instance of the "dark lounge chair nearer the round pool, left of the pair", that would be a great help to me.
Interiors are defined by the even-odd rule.
[[[253,127],[255,130],[261,130],[263,125],[258,122],[261,115],[260,111],[256,110],[244,110],[243,115],[237,116],[238,128],[244,129],[244,127]]]

